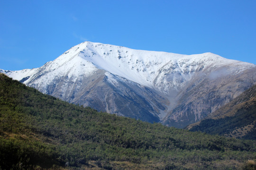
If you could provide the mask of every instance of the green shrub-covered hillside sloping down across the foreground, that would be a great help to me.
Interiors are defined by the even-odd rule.
[[[2,170],[233,170],[255,159],[255,141],[97,112],[0,74]]]

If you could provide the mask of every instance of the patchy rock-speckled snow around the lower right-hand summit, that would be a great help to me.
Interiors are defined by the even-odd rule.
[[[228,67],[222,72],[218,68]],[[174,90],[179,91],[195,76],[205,76],[211,73],[211,77],[223,74],[238,74],[248,68],[255,68],[254,64],[232,59],[225,59],[210,52],[183,56],[172,59],[158,70],[154,87],[170,94]],[[217,70],[217,71],[216,71]]]

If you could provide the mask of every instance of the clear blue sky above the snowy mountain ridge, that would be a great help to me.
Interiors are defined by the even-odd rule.
[[[0,68],[37,68],[84,41],[256,64],[256,0],[0,0]]]

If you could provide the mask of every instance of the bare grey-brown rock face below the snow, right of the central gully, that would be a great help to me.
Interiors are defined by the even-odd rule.
[[[165,117],[163,123],[169,126],[185,127],[201,120],[254,85],[254,72],[255,69],[248,69],[237,75],[220,73],[218,77],[212,78],[213,71],[205,76],[194,77],[177,95],[177,105]]]

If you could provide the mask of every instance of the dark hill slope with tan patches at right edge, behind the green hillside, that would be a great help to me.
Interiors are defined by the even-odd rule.
[[[212,135],[256,140],[256,85],[210,114],[208,119],[188,128]]]

